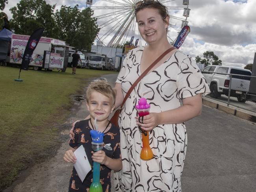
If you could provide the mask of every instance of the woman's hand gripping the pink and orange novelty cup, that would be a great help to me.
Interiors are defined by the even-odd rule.
[[[158,126],[160,122],[160,113],[150,113],[146,116],[142,117],[135,117],[136,124],[141,126],[141,129],[145,131],[151,131],[156,126]]]

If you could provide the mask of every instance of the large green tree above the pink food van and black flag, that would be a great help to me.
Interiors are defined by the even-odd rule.
[[[11,28],[16,34],[31,35],[38,28],[45,28],[43,36],[56,37],[53,11],[56,5],[46,4],[45,0],[20,0],[17,7],[10,9],[13,18]]]

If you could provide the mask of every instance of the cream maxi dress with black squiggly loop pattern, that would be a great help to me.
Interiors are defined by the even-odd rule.
[[[125,96],[141,75],[140,61],[144,47],[131,50],[124,59],[116,83]],[[185,124],[158,125],[152,129],[150,147],[154,158],[140,159],[141,133],[134,117],[135,105],[142,94],[150,103],[150,112],[160,113],[182,105],[182,99],[209,92],[195,61],[180,51],[147,74],[126,100],[119,116],[122,155],[122,190],[124,192],[178,192],[187,146]],[[148,92],[148,93],[147,93]]]

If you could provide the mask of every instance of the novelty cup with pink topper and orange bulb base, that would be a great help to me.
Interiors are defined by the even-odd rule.
[[[142,97],[139,99],[138,105],[136,105],[135,108],[138,111],[139,117],[143,117],[149,114],[150,105],[147,103],[147,100]],[[148,131],[143,131],[141,128],[140,130],[142,134],[142,145],[143,145],[141,149],[141,159],[147,161],[152,159],[154,155],[149,146]]]

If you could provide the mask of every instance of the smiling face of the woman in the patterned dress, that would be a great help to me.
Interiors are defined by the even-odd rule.
[[[166,17],[166,23],[163,21],[157,9],[145,8],[137,12],[136,18],[139,33],[148,44],[160,42],[162,39],[166,38],[169,17]]]

